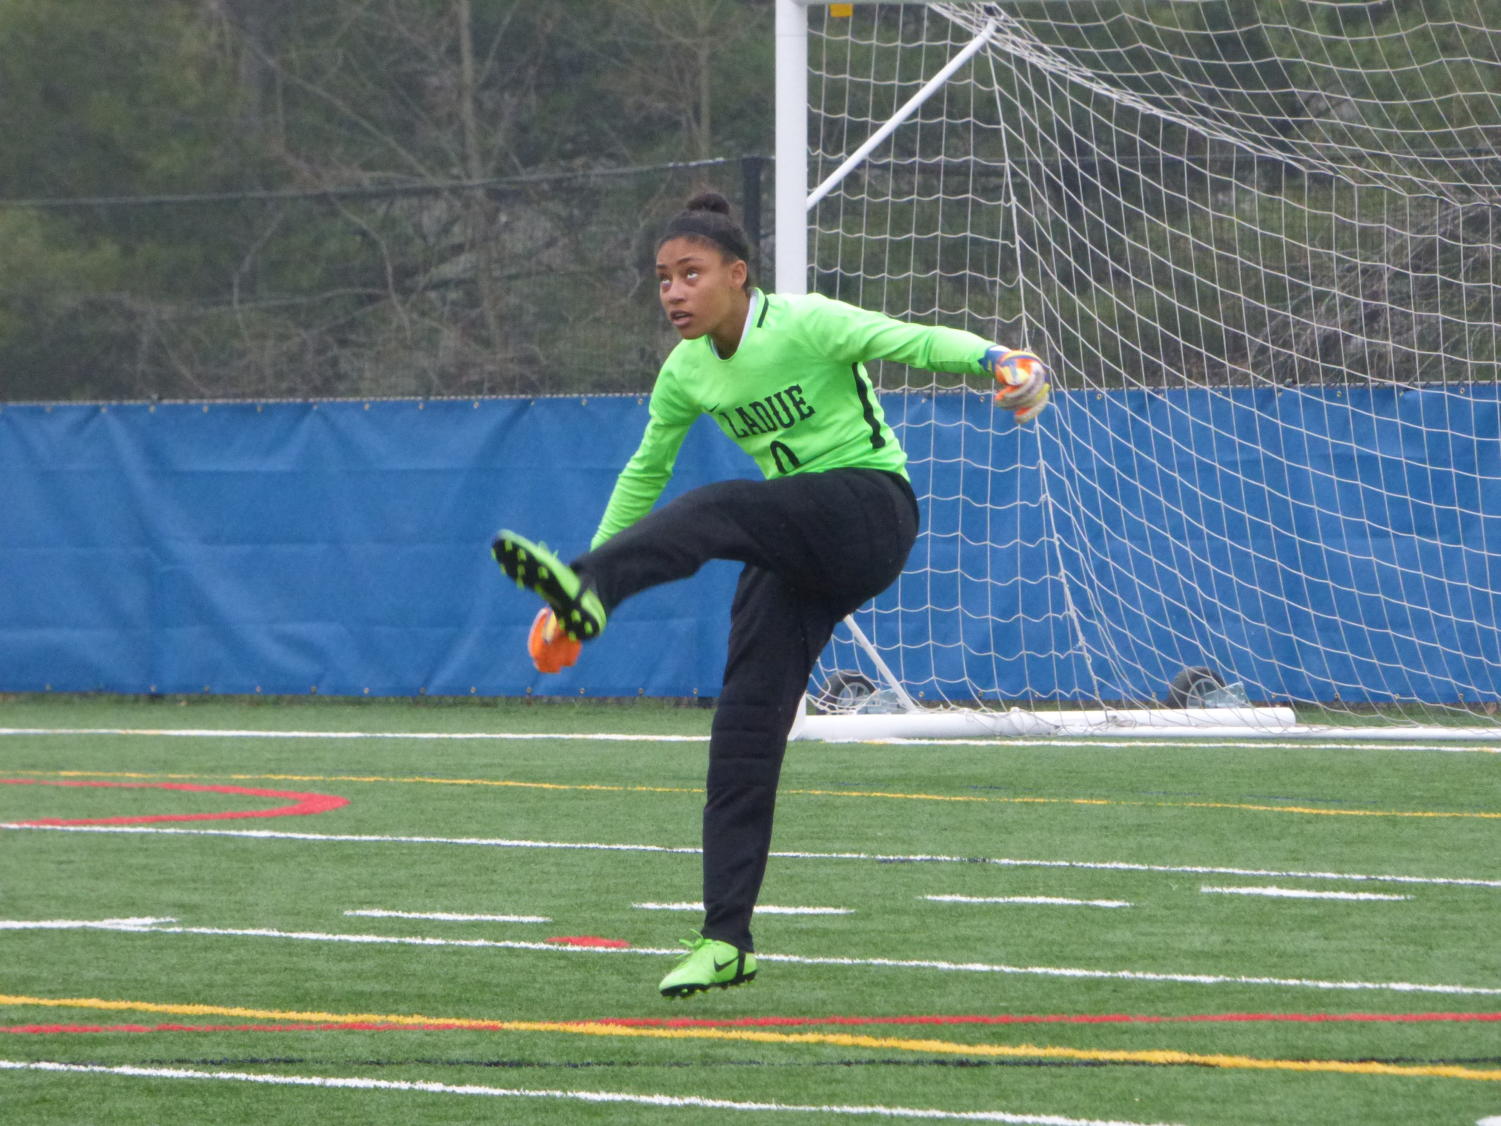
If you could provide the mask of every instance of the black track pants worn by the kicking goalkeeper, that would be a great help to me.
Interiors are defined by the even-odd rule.
[[[605,610],[711,558],[744,563],[708,740],[702,934],[754,949],[776,784],[833,628],[902,572],[917,501],[893,473],[841,468],[693,489],[573,561]]]

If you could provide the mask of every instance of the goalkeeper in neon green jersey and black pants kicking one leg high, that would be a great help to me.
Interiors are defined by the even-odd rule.
[[[708,740],[704,926],[662,979],[666,997],[755,977],[750,913],[794,713],[835,625],[896,580],[917,534],[907,455],[862,365],[994,375],[997,404],[1019,422],[1048,404],[1046,372],[1030,353],[818,294],[763,293],[750,287],[747,258],[725,198],[689,200],[656,257],[662,308],[683,339],[662,365],[641,446],[591,549],[563,563],[513,531],[492,545],[501,569],[546,602],[528,647],[537,668],[554,673],[632,595],[711,558],[744,565]],[[766,479],[705,485],[653,512],[699,414]]]

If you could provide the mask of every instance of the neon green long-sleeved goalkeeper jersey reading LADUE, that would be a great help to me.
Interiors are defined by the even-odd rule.
[[[699,414],[713,416],[767,477],[832,468],[907,476],[907,453],[886,425],[865,362],[979,375],[989,347],[971,332],[907,324],[817,293],[755,290],[729,359],[707,335],[668,354],[641,446],[620,471],[591,546],[651,510]]]

